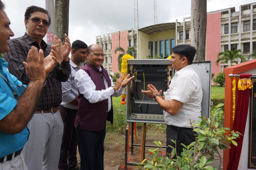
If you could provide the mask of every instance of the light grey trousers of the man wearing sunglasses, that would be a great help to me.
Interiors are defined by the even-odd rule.
[[[63,134],[59,111],[33,114],[27,127],[30,133],[22,153],[28,170],[57,170]]]

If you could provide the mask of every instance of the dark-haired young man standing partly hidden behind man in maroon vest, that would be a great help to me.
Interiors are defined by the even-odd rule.
[[[87,45],[81,40],[75,40],[71,46],[71,74],[62,85],[62,102],[59,106],[60,115],[64,125],[64,131],[60,148],[58,170],[79,170],[76,160],[77,139],[74,128],[75,116],[78,109],[78,90],[75,84],[75,73],[83,67],[81,63],[86,60]]]

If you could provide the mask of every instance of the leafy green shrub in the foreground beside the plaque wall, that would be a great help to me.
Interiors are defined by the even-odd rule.
[[[155,150],[148,150],[152,154],[147,154],[149,160],[143,160],[141,164],[138,164],[137,167],[142,167],[147,170],[157,170],[157,169],[184,169],[184,170],[197,170],[197,169],[207,169],[214,170],[215,167],[211,167],[208,164],[212,163],[214,153],[218,153],[219,149],[230,148],[229,144],[237,146],[237,142],[234,139],[237,139],[240,135],[239,132],[230,131],[229,128],[223,127],[223,111],[221,107],[223,103],[218,104],[211,108],[210,118],[200,117],[201,120],[196,121],[195,124],[191,124],[194,131],[197,133],[196,141],[192,142],[190,145],[185,146],[181,144],[183,152],[181,156],[176,155],[176,159],[172,159],[176,154],[176,149],[173,148],[169,157],[159,155],[161,153],[159,149],[162,147],[160,141],[154,142],[160,148]],[[226,135],[226,130],[230,132],[229,135]],[[176,143],[176,141],[172,142]],[[218,153],[221,160],[221,156]],[[221,165],[220,165],[221,166]],[[220,167],[221,168],[221,167]]]

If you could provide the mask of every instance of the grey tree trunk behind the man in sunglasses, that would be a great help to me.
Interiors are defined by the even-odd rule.
[[[65,41],[65,33],[69,32],[69,0],[55,0],[55,33]]]

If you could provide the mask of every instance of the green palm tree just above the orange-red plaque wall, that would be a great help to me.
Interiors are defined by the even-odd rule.
[[[224,61],[225,63],[228,63],[230,61],[230,66],[232,66],[232,62],[237,63],[237,61],[234,61],[234,59],[240,58],[241,63],[245,62],[244,56],[241,54],[241,49],[236,49],[233,51],[226,50],[224,52],[219,52],[217,54],[217,60],[215,61],[215,64],[218,66],[219,61]]]

